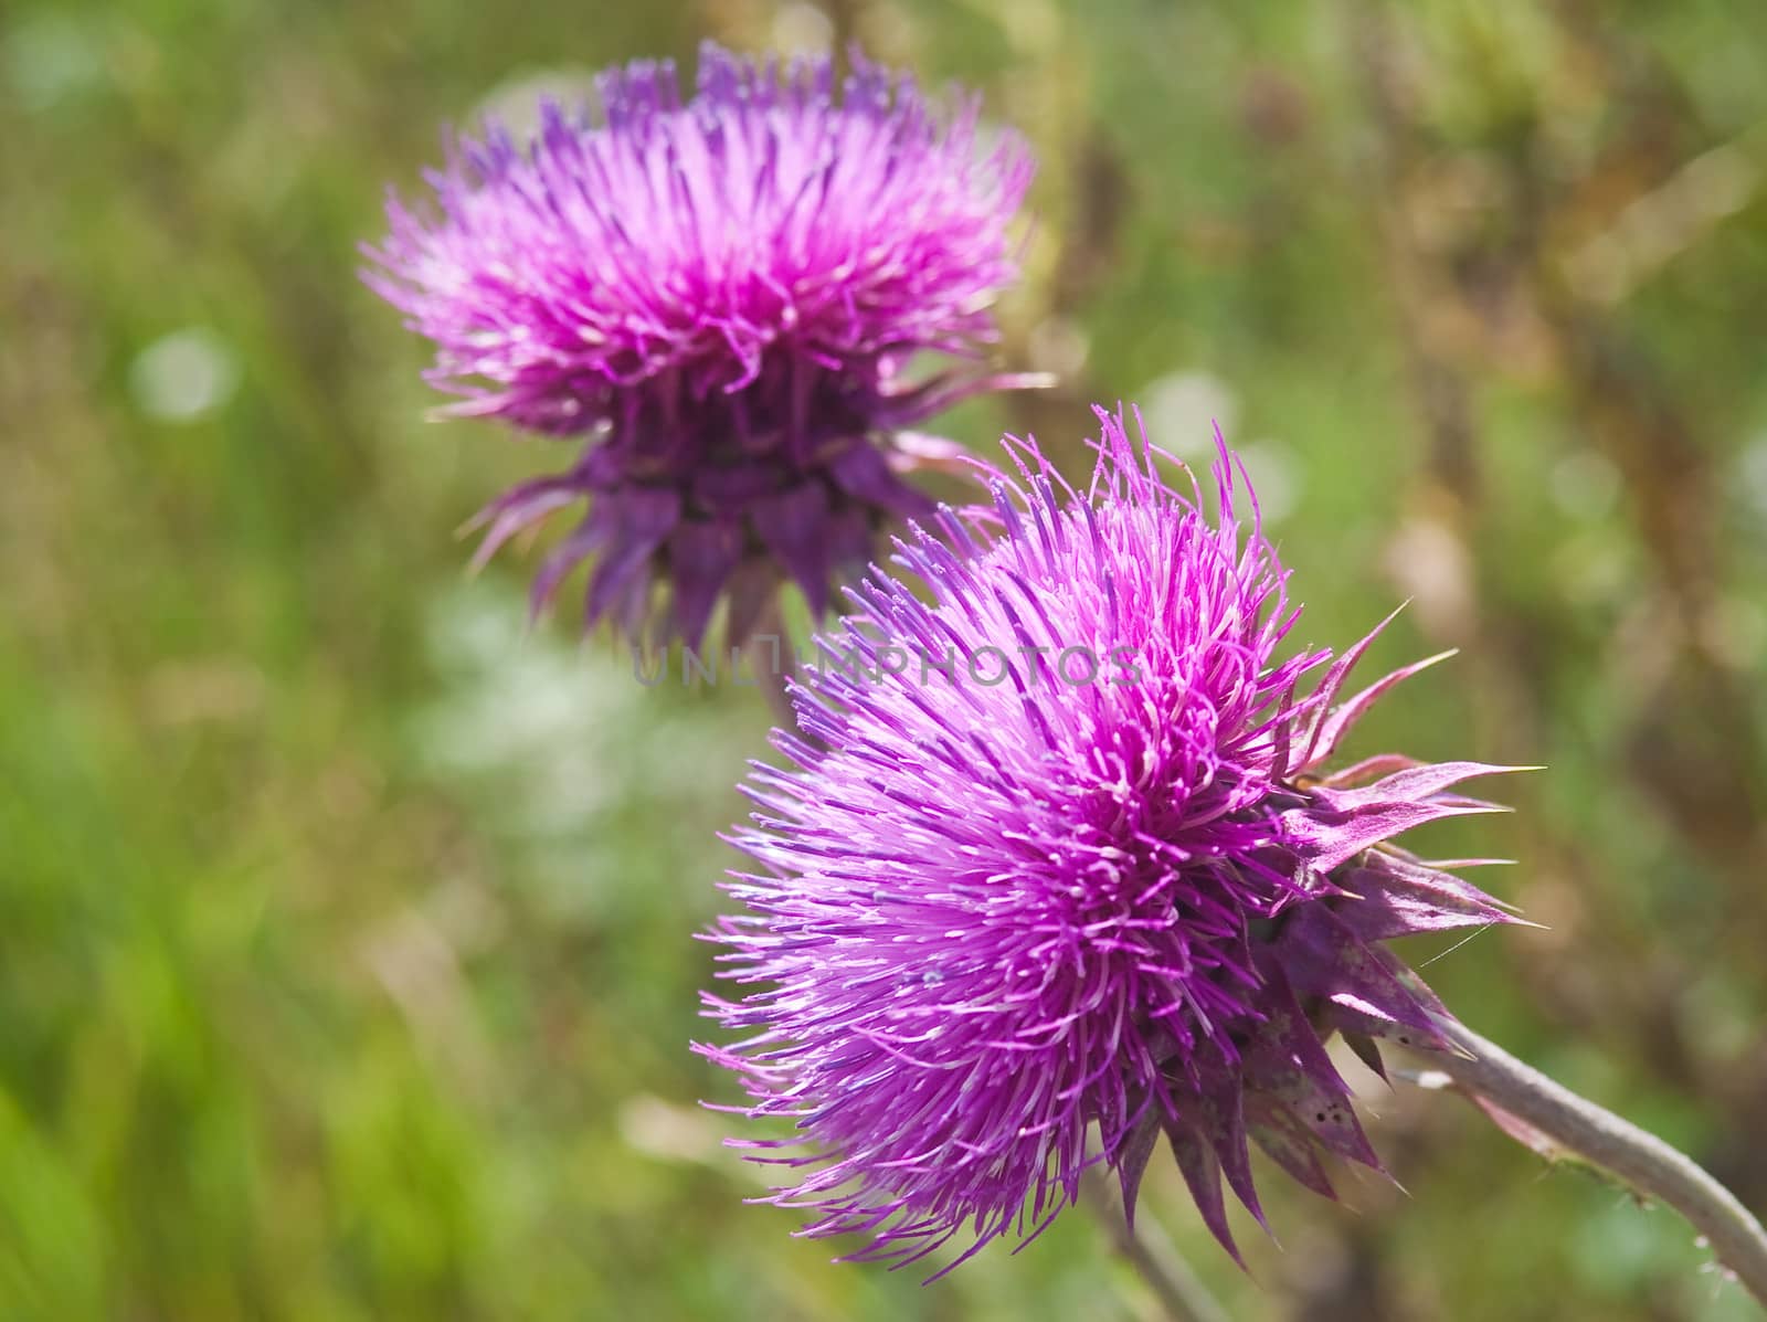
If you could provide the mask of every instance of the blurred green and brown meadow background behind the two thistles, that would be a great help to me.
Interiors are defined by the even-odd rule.
[[[687,1052],[763,751],[456,527],[560,454],[428,424],[355,279],[444,122],[862,41],[1035,143],[968,406],[1240,442],[1313,642],[1458,645],[1361,751],[1544,762],[1444,852],[1546,924],[1449,1002],[1767,1205],[1767,14],[1638,0],[14,0],[0,11],[0,1318],[1145,1318],[1073,1212],[829,1265]],[[1417,960],[1431,949],[1414,949]],[[1246,1318],[1742,1318],[1672,1214],[1369,1090],[1403,1195],[1269,1182]]]

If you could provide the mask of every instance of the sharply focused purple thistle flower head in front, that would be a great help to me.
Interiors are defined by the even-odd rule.
[[[755,990],[707,1002],[751,1036],[698,1050],[742,1073],[746,1113],[795,1121],[739,1145],[799,1172],[772,1200],[813,1209],[806,1234],[869,1234],[855,1258],[1037,1234],[1092,1126],[1131,1214],[1164,1133],[1237,1257],[1221,1177],[1262,1223],[1248,1143],[1327,1197],[1323,1154],[1380,1168],[1323,1041],[1376,1069],[1375,1039],[1445,1048],[1447,1011],[1382,942],[1509,921],[1467,864],[1389,843],[1497,811],[1454,786],[1505,767],[1323,769],[1440,657],[1343,702],[1375,634],[1279,661],[1299,608],[1219,433],[1210,523],[1099,419],[1083,495],[1009,442],[1023,481],[993,472],[991,513],[898,543],[931,604],[855,589],[823,647],[864,665],[806,672],[804,737],[776,735],[797,767],[746,785],[762,811],[735,843],[763,871],[714,940]],[[963,657],[990,649],[1012,666],[977,684]]]

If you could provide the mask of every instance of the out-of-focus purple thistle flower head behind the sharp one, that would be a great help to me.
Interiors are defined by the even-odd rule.
[[[530,145],[461,141],[429,177],[440,217],[389,200],[366,279],[435,341],[428,378],[463,396],[444,412],[583,444],[479,516],[482,562],[588,500],[535,608],[594,557],[588,622],[634,636],[694,645],[728,596],[740,640],[785,578],[820,613],[885,521],[931,514],[901,475],[961,454],[903,428],[1035,384],[903,378],[995,336],[1025,145],[857,57],[834,87],[829,58],[707,44],[687,103],[671,64],[631,64],[597,80],[599,117],[548,103]]]

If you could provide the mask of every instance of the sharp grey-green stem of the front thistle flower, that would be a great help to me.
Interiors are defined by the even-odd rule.
[[[1444,1023],[1442,1036],[1465,1055],[1430,1052],[1417,1059],[1445,1073],[1474,1101],[1500,1112],[1493,1119],[1530,1147],[1548,1156],[1576,1156],[1608,1172],[1636,1195],[1673,1207],[1693,1223],[1742,1287],[1767,1304],[1767,1232],[1698,1163],[1516,1060],[1463,1023]],[[1520,1121],[1520,1133],[1518,1126],[1505,1121]]]

